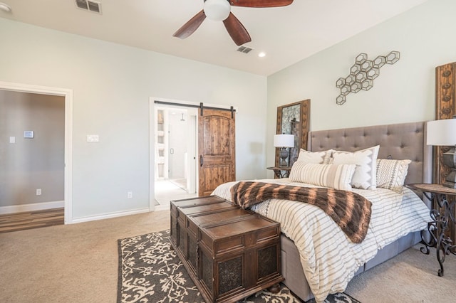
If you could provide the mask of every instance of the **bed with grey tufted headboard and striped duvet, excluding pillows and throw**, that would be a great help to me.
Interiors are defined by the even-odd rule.
[[[341,154],[340,151],[355,152],[378,145],[377,159],[411,160],[404,184],[430,183],[432,150],[425,145],[424,138],[425,122],[333,129],[310,132],[307,150],[311,153],[331,150]],[[300,182],[291,179],[261,182],[301,186]],[[237,182],[222,184],[213,194],[231,200],[230,191],[234,184]],[[323,302],[328,294],[343,292],[355,275],[418,243],[420,230],[425,229],[429,220],[429,202],[425,205],[408,188],[401,186],[400,191],[395,190],[353,188],[354,192],[373,201],[366,238],[358,244],[352,243],[341,228],[316,206],[280,199],[252,206],[252,210],[281,223],[284,284],[304,301],[315,297],[317,302]],[[378,195],[383,195],[381,199],[386,196],[393,207],[385,208],[385,203],[376,202]],[[297,220],[291,220],[296,216],[299,216]]]

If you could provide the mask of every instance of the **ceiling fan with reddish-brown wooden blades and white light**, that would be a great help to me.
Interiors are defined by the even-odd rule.
[[[185,39],[194,33],[207,17],[214,21],[223,21],[229,36],[237,46],[252,41],[242,23],[232,14],[231,6],[244,7],[278,7],[287,6],[293,0],[204,0],[204,9],[193,16],[172,36]]]

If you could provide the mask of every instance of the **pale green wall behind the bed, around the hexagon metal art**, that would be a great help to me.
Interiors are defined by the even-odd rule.
[[[456,1],[430,0],[268,77],[269,121],[279,105],[311,99],[311,130],[417,122],[435,117],[435,67],[456,61]],[[336,80],[346,77],[359,53],[373,60],[400,52],[394,65],[380,68],[371,90],[336,105]],[[267,126],[267,163],[274,164]],[[271,173],[270,176],[272,176]]]

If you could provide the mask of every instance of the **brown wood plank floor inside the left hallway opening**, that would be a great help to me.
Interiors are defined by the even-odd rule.
[[[10,233],[17,230],[42,228],[52,225],[63,225],[63,208],[52,208],[43,211],[26,211],[24,213],[9,213],[0,215],[0,233]]]

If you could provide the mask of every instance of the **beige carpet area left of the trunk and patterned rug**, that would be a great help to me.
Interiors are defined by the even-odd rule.
[[[116,302],[120,238],[170,228],[169,211],[0,234],[0,302]]]

